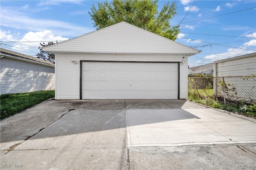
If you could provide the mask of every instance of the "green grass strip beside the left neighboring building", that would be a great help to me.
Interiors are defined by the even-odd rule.
[[[54,90],[2,94],[0,96],[1,102],[1,119],[19,113],[31,106],[39,104],[46,99],[54,97]]]

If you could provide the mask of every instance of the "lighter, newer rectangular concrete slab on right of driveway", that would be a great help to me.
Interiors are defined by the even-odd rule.
[[[256,142],[256,123],[214,109],[126,109],[128,147]]]

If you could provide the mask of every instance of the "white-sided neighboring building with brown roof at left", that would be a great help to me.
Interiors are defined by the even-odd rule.
[[[54,89],[54,64],[0,48],[0,94]]]

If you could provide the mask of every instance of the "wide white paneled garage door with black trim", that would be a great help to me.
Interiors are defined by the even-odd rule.
[[[83,62],[83,99],[178,99],[177,63]]]

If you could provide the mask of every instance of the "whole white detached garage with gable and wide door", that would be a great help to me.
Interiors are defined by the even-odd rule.
[[[188,57],[199,53],[126,22],[43,51],[56,57],[56,99],[187,99]]]

